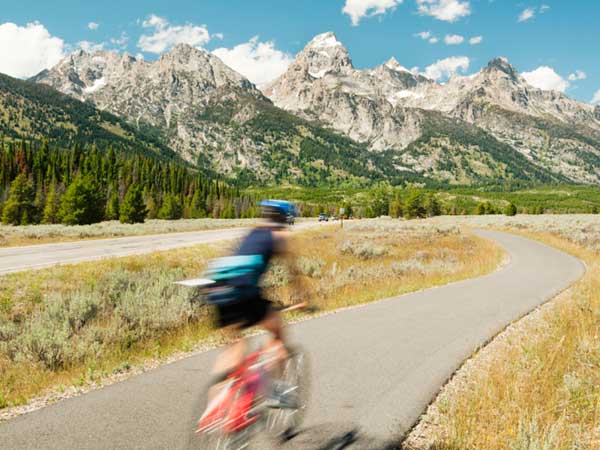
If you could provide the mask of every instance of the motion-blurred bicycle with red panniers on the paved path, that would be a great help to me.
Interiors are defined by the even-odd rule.
[[[212,280],[196,279],[177,284],[203,291],[214,283]],[[192,298],[202,298],[202,294]],[[300,303],[281,312],[306,306]],[[249,339],[244,339],[246,348],[250,348]],[[196,435],[201,444],[198,448],[246,449],[250,441],[263,431],[283,440],[293,437],[305,415],[310,374],[305,352],[297,346],[286,350],[287,358],[279,366],[280,355],[262,345],[250,351],[224,380],[219,380],[216,384],[218,392],[208,402],[198,421]],[[279,366],[279,377],[273,376],[272,366]],[[277,401],[274,401],[275,391],[279,391]]]

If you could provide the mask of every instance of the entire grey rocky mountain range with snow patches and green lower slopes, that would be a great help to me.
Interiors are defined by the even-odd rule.
[[[78,51],[31,81],[248,182],[600,184],[600,108],[530,86],[504,58],[438,83],[394,58],[358,70],[324,33],[262,92],[187,45],[153,62]]]

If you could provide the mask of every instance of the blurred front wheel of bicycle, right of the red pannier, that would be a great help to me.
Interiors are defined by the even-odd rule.
[[[287,386],[285,407],[268,413],[267,429],[276,436],[287,438],[298,430],[306,414],[310,394],[310,365],[306,353],[299,347],[288,348],[281,381]]]

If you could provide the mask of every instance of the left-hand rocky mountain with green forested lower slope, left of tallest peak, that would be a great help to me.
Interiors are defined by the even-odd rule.
[[[366,183],[395,176],[382,155],[274,107],[216,56],[188,45],[154,62],[80,51],[33,81],[160,129],[185,159],[247,182]]]

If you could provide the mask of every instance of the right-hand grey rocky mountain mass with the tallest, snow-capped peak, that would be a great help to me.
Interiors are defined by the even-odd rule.
[[[394,159],[405,170],[430,178],[463,183],[501,175],[496,158],[481,163],[481,152],[493,142],[559,178],[600,183],[600,108],[533,88],[503,58],[475,75],[438,84],[395,59],[356,70],[335,35],[325,33],[308,43],[265,94],[275,105],[320,120],[372,150],[395,149]],[[431,140],[430,125],[440,125],[440,114],[452,124],[453,137],[436,132]],[[473,125],[492,137],[475,153],[472,142],[461,141]]]

